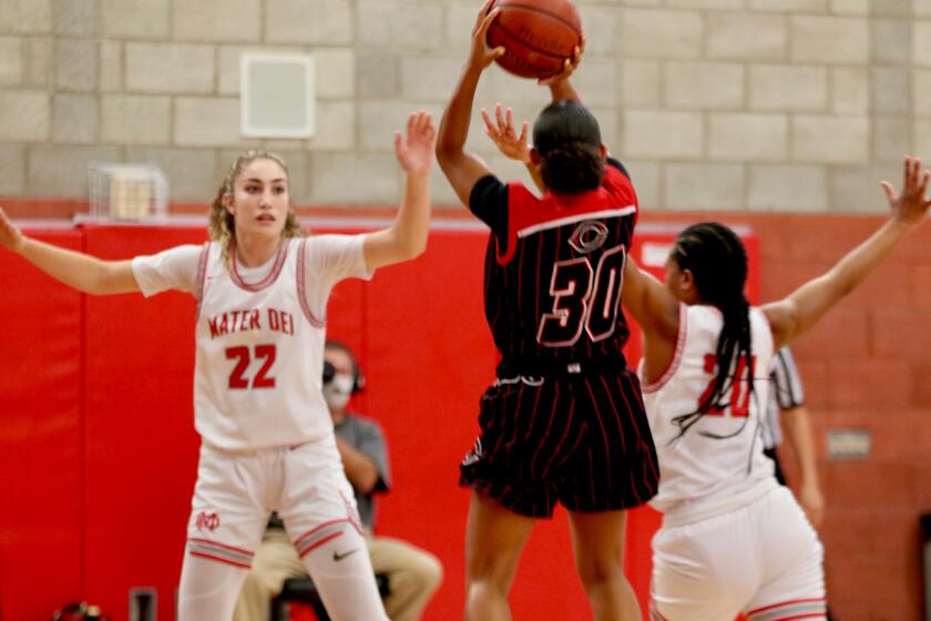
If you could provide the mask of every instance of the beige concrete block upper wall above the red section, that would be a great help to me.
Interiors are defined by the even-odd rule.
[[[579,90],[649,208],[874,212],[889,165],[931,153],[931,0],[577,1]],[[163,164],[173,200],[203,202],[229,155],[264,146],[307,175],[301,205],[393,204],[391,133],[442,110],[478,4],[0,0],[0,156],[24,160],[0,196],[85,197],[80,162],[112,156]],[[316,54],[316,136],[239,136],[246,50]],[[493,68],[477,105],[532,120],[546,99]]]

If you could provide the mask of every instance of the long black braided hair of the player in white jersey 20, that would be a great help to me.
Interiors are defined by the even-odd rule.
[[[754,395],[754,365],[750,352],[750,305],[744,295],[747,251],[740,238],[723,224],[702,222],[679,233],[673,246],[672,257],[681,269],[692,272],[702,302],[715,306],[724,315],[724,326],[720,328],[715,352],[717,376],[712,390],[705,395],[698,409],[673,419],[679,428],[676,438],[681,438],[703,415],[726,407],[722,397],[735,381],[740,380],[739,377],[735,377],[740,367],[746,368],[749,374],[749,399]],[[741,358],[746,366],[740,364]],[[715,439],[730,438],[744,430],[747,420],[744,420],[744,425],[737,431],[727,436],[709,431],[699,434]]]

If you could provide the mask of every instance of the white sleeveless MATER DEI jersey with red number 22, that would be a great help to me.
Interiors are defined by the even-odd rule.
[[[198,282],[195,427],[225,450],[293,446],[332,434],[323,397],[326,329],[304,296],[307,240],[286,240],[269,272],[246,283],[222,245]]]

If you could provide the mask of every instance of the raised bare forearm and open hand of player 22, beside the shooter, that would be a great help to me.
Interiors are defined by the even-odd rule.
[[[362,252],[369,271],[415,258],[427,250],[436,134],[430,114],[423,111],[408,116],[406,135],[395,134],[395,153],[407,174],[405,194],[391,227],[366,237]]]

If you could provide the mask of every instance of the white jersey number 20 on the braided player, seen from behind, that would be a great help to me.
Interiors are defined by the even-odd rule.
[[[676,417],[697,410],[712,389],[723,325],[723,315],[713,306],[682,305],[673,363],[663,377],[643,387],[659,459],[659,492],[651,505],[666,513],[706,513],[717,501],[773,478],[773,462],[763,454],[759,437],[769,390],[773,334],[758,308],[750,309],[754,393],[748,389],[747,365],[740,360],[735,365],[738,381],[719,400],[724,408],[703,415],[684,435],[674,423]]]

